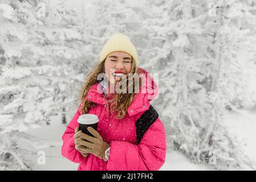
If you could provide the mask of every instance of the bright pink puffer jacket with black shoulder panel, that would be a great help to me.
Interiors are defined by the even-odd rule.
[[[144,69],[139,69],[147,73]],[[109,159],[105,162],[93,154],[84,157],[75,149],[73,137],[81,114],[81,104],[62,136],[62,155],[72,162],[80,163],[79,171],[158,170],[164,164],[166,154],[165,129],[159,118],[146,131],[139,145],[136,144],[135,123],[157,95],[157,85],[153,80],[152,82],[155,85],[155,93],[137,93],[123,119],[115,119],[109,113],[103,94],[97,92],[98,83],[92,85],[86,99],[95,102],[96,106],[92,107],[89,113],[96,114],[99,118],[97,131],[104,141],[110,144]]]

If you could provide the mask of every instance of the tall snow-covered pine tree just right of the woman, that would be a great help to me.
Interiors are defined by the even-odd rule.
[[[243,2],[237,1],[237,3]],[[218,165],[211,167],[217,169],[224,169],[227,166],[237,167],[241,162],[238,148],[231,143],[230,136],[226,135],[226,129],[220,125],[222,114],[227,109],[227,104],[230,105],[230,94],[229,96],[226,94],[229,89],[225,89],[224,85],[218,91],[214,89],[215,84],[220,84],[219,79],[234,82],[233,85],[241,81],[241,78],[235,75],[226,76],[225,74],[228,73],[224,73],[220,78],[220,68],[224,65],[227,66],[224,66],[225,68],[229,67],[222,57],[225,56],[222,52],[225,51],[224,47],[230,46],[223,30],[228,26],[223,20],[225,12],[220,11],[226,9],[225,3],[224,1],[159,2],[158,9],[162,9],[163,12],[160,17],[155,15],[155,18],[144,21],[144,27],[151,30],[146,35],[154,35],[153,39],[156,38],[155,40],[148,38],[148,44],[155,45],[149,50],[156,55],[156,59],[145,56],[148,61],[143,67],[149,69],[155,67],[155,72],[156,70],[159,72],[161,86],[155,104],[161,110],[160,115],[168,128],[166,133],[171,137],[168,140],[170,139],[174,144],[174,148],[184,151],[194,162],[209,164],[210,155],[214,154],[213,157],[217,157]],[[251,7],[250,10],[252,11],[253,8]],[[254,32],[250,35],[254,35]],[[250,36],[248,38],[254,40]],[[248,40],[246,39],[245,42]],[[250,59],[255,57],[255,52],[251,48],[247,52],[251,55]],[[226,54],[232,55],[230,52]],[[241,66],[233,63],[238,67]],[[253,64],[250,64],[250,67],[254,69]],[[225,68],[221,68],[222,72],[226,70]],[[239,69],[240,73],[243,71],[244,69]],[[254,73],[249,72],[248,75],[253,76]],[[248,82],[244,83],[247,85]],[[232,89],[236,88],[232,86]],[[254,93],[252,91],[248,95]],[[243,97],[242,92],[232,98],[239,97]],[[254,101],[253,98],[252,103]]]

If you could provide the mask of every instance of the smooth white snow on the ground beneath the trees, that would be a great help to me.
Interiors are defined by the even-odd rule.
[[[251,160],[256,161],[256,113],[249,111],[241,111],[240,113],[227,114],[224,117],[223,126],[228,128],[228,132],[235,140],[238,140],[241,151],[246,154]],[[69,122],[70,119],[67,119]],[[77,170],[77,163],[73,163],[61,155],[62,134],[66,130],[66,125],[61,123],[60,114],[52,117],[52,124],[37,129],[30,129],[27,134],[36,136],[42,139],[50,139],[58,142],[57,147],[35,148],[27,147],[33,154],[26,154],[26,164],[34,170]],[[24,145],[25,146],[25,145]],[[46,154],[46,164],[39,165],[38,151],[44,151]],[[245,168],[250,169],[250,168]],[[166,160],[160,170],[209,170],[201,164],[194,164],[186,158],[181,152],[170,150],[166,153]]]

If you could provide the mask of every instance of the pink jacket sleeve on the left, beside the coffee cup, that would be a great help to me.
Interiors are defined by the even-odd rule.
[[[79,105],[80,106],[80,105]],[[78,150],[75,148],[75,128],[78,126],[78,118],[80,112],[76,111],[74,117],[71,119],[70,123],[66,127],[66,131],[62,135],[62,155],[75,163],[83,163],[86,162],[87,157],[84,157]]]

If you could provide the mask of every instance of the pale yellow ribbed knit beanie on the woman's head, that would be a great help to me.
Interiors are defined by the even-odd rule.
[[[123,51],[129,53],[137,65],[137,51],[128,36],[124,34],[112,35],[101,49],[99,60],[100,63],[107,57],[107,55],[109,55],[109,53],[115,51]]]

